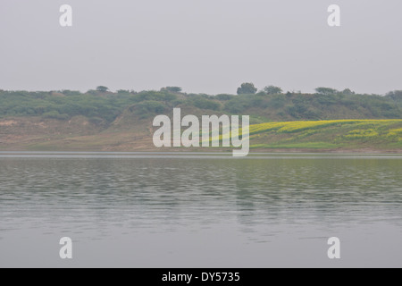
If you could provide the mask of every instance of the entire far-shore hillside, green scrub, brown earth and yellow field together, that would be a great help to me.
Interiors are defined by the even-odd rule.
[[[0,90],[0,150],[155,150],[152,121],[157,114],[172,116],[173,107],[198,118],[250,115],[256,150],[402,151],[400,92],[208,96],[165,88],[84,94]]]

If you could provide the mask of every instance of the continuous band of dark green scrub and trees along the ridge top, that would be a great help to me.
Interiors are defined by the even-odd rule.
[[[125,109],[138,110],[147,118],[172,110],[173,107],[197,108],[216,114],[249,114],[252,122],[338,119],[400,119],[402,91],[387,96],[357,95],[350,89],[339,92],[317,88],[316,94],[281,94],[281,88],[269,86],[254,94],[252,84],[243,84],[239,96],[222,94],[186,94],[181,88],[167,87],[161,91],[119,90],[105,92],[99,86],[86,93],[62,90],[50,92],[0,91],[0,118],[38,116],[68,120],[82,115],[96,122],[110,124]],[[240,93],[241,93],[240,92]]]

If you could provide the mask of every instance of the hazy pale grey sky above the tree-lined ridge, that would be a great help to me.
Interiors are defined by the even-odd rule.
[[[401,13],[401,0],[0,0],[0,88],[383,94],[402,89]]]

